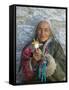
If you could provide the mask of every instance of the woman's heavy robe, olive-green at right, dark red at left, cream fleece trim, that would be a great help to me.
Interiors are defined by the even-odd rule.
[[[31,63],[32,52],[34,51],[34,48],[32,47],[32,44],[30,44],[22,50],[22,53],[27,48],[30,48],[32,51],[29,58],[24,58],[22,54],[20,64],[22,68],[21,70],[26,81],[36,81],[37,64],[35,65],[35,67],[33,67],[34,65],[32,65]],[[43,46],[40,47],[40,49],[43,49],[44,55],[46,53],[46,50],[48,53],[46,56],[48,57],[48,65],[46,68],[47,82],[64,81],[66,79],[66,56],[60,43],[56,41],[54,38],[50,38],[43,44]]]

